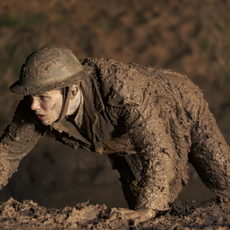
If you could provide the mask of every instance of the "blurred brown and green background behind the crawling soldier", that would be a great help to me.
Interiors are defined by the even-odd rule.
[[[46,45],[71,49],[80,58],[111,58],[170,68],[204,92],[230,143],[229,0],[1,0],[0,134],[20,96],[9,92],[25,58]],[[211,193],[189,166],[189,186],[179,199]],[[119,175],[108,159],[42,139],[0,192],[61,208],[89,201],[127,207]]]

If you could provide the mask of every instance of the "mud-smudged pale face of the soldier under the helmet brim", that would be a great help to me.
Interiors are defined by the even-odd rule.
[[[62,108],[60,90],[52,90],[41,95],[31,96],[31,109],[34,110],[43,125],[51,125],[60,115]]]

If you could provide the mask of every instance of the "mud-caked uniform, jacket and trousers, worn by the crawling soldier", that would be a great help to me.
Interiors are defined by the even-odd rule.
[[[129,203],[132,208],[168,209],[187,183],[188,159],[209,188],[228,190],[229,147],[201,91],[186,76],[113,60],[88,58],[82,64],[94,69],[80,83],[82,124],[68,117],[43,126],[25,97],[1,139],[2,186],[22,157],[47,135],[73,148],[115,154],[111,161],[123,189],[128,183],[135,197]],[[129,182],[124,167],[119,169],[119,156],[132,172]]]

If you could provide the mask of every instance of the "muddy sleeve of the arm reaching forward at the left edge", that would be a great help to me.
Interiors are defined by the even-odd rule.
[[[8,183],[22,158],[32,150],[44,132],[33,111],[28,109],[28,103],[26,97],[20,101],[12,122],[0,138],[0,189]]]

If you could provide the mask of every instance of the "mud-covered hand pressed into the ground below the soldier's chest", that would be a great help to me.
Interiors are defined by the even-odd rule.
[[[112,213],[119,214],[119,217],[124,220],[134,220],[138,222],[147,221],[156,216],[156,211],[153,209],[137,209],[131,210],[127,208],[114,208]]]

